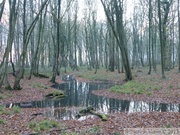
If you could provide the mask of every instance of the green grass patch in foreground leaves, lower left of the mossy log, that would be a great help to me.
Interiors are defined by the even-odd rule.
[[[60,124],[57,121],[53,120],[43,120],[41,122],[31,122],[29,123],[29,128],[35,130],[35,131],[46,131],[51,128],[57,128],[60,127]]]

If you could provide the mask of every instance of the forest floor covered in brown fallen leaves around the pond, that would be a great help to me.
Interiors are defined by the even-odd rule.
[[[97,74],[93,71],[75,71],[73,74],[78,81],[111,81],[115,84],[123,84],[124,73],[109,72],[98,70]],[[86,76],[86,78],[84,78]],[[110,98],[151,101],[157,103],[175,103],[180,104],[180,73],[177,69],[166,72],[166,79],[161,78],[161,73],[152,72],[147,75],[147,70],[134,69],[134,81],[145,83],[153,88],[151,94],[122,94],[114,93],[109,90],[94,91],[94,94]],[[10,82],[13,83],[13,76],[10,76]],[[4,90],[0,91],[0,105],[41,100],[44,95],[53,91],[52,83],[49,78],[36,78],[31,80],[25,76],[21,80],[22,90]],[[63,83],[57,78],[58,83]],[[102,121],[98,117],[87,118],[85,120],[55,120],[38,115],[46,112],[46,108],[2,108],[0,107],[0,135],[30,135],[34,134],[104,134],[120,135],[126,128],[180,128],[179,112],[137,112],[126,113],[117,112],[107,114],[108,120]],[[43,128],[42,121],[56,121],[60,124],[52,124],[50,128]],[[46,121],[47,122],[47,121]],[[47,123],[45,123],[47,125]],[[35,129],[35,126],[39,128]],[[180,134],[180,129],[179,133]]]

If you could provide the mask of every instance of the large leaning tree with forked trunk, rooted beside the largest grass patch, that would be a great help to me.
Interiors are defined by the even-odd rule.
[[[110,3],[107,4],[107,1],[101,0],[101,3],[104,7],[104,11],[107,16],[107,20],[110,23],[110,26],[112,28],[113,34],[116,38],[117,45],[119,46],[121,50],[121,56],[122,56],[122,62],[123,66],[125,69],[125,75],[126,75],[126,81],[132,80],[132,73],[131,73],[131,68],[130,68],[130,63],[129,63],[129,58],[128,58],[128,51],[127,51],[127,44],[125,40],[125,31],[124,31],[124,24],[123,24],[123,1],[121,0],[113,0],[110,1]],[[113,4],[114,9],[113,11],[108,8],[109,4]],[[115,13],[115,14],[113,14]],[[111,17],[115,16],[115,21],[116,21],[116,28],[112,23]]]

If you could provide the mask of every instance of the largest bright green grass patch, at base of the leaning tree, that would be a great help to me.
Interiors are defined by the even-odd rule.
[[[138,83],[135,81],[129,81],[123,85],[115,85],[110,88],[112,92],[124,93],[124,94],[147,94],[152,95],[149,91],[151,87],[147,84]]]

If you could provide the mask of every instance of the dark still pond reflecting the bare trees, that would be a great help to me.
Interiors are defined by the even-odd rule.
[[[45,113],[48,117],[57,119],[74,119],[80,108],[92,106],[96,111],[102,113],[115,112],[180,112],[178,104],[159,104],[143,101],[128,101],[111,99],[92,94],[93,90],[103,90],[110,88],[110,83],[86,83],[76,80],[66,81],[63,84],[55,84],[52,87],[64,90],[66,97],[58,100],[44,99],[41,101],[31,101],[17,103],[20,107],[49,108]],[[25,106],[26,105],[26,106]]]

